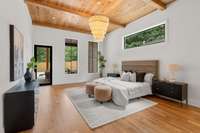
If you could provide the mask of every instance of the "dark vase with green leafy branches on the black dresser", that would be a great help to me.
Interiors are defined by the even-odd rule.
[[[31,80],[35,80],[35,69],[37,67],[37,62],[35,61],[35,58],[32,57],[30,59],[30,62],[27,63],[26,73],[24,75],[24,79],[27,82],[30,82]],[[30,72],[31,71],[31,72]]]

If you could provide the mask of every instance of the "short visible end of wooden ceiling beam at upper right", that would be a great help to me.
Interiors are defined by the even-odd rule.
[[[167,8],[167,5],[163,3],[161,0],[143,0],[143,1],[148,4],[151,4],[153,7],[161,11]]]

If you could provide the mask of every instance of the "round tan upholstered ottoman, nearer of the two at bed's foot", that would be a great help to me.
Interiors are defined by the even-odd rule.
[[[94,88],[94,97],[100,103],[112,99],[112,89],[106,85],[98,85]]]

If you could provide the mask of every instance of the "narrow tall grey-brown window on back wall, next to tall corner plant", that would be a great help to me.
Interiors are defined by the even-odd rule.
[[[98,43],[96,42],[88,44],[88,72],[98,72]]]

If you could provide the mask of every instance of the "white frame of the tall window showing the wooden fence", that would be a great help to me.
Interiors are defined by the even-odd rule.
[[[77,39],[71,39],[77,41],[77,73],[67,73],[65,71],[65,48],[67,47],[67,43],[65,42],[65,48],[64,48],[64,73],[65,75],[79,75],[79,43]]]

